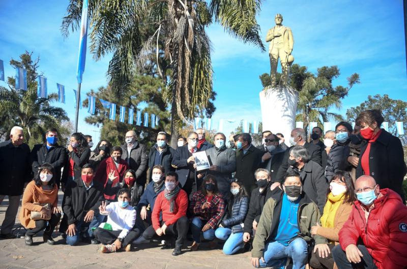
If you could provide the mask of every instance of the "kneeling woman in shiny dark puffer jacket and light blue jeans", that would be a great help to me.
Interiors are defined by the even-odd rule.
[[[223,245],[223,253],[235,254],[243,248],[243,222],[249,208],[249,197],[243,183],[237,179],[230,185],[233,197],[229,201],[227,213],[215,236],[220,240],[226,240]]]

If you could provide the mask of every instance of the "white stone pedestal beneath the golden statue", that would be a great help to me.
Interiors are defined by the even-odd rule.
[[[259,93],[263,131],[281,132],[289,145],[296,127],[298,91],[289,86],[269,87]]]

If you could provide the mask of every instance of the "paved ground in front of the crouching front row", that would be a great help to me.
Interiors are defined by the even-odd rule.
[[[7,205],[5,198],[0,206],[0,224]],[[18,226],[16,223],[15,227]],[[219,249],[210,250],[202,243],[199,251],[190,252],[185,244],[184,254],[175,257],[171,255],[172,249],[161,250],[153,243],[142,245],[142,249],[135,247],[132,252],[102,254],[97,251],[99,245],[67,246],[59,234],[54,238],[54,246],[42,243],[42,236],[33,240],[31,247],[25,246],[22,238],[0,240],[0,268],[252,268],[249,252],[226,256],[221,245]]]

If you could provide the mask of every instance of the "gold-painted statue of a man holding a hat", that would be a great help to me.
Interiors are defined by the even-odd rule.
[[[283,16],[277,14],[275,17],[276,26],[271,28],[267,32],[266,42],[270,42],[269,56],[270,56],[270,77],[271,85],[276,85],[276,75],[277,75],[277,63],[280,57],[280,64],[282,70],[282,84],[288,84],[288,64],[294,60],[291,55],[294,46],[293,32],[289,27],[283,26],[281,23],[283,21]]]

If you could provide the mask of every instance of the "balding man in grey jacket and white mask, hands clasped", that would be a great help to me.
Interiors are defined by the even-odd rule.
[[[149,165],[149,155],[147,147],[137,141],[136,132],[130,130],[126,132],[126,144],[122,145],[122,159],[124,159],[129,169],[136,171],[136,181],[139,188],[138,192],[144,192],[144,186],[147,182],[147,170]]]

